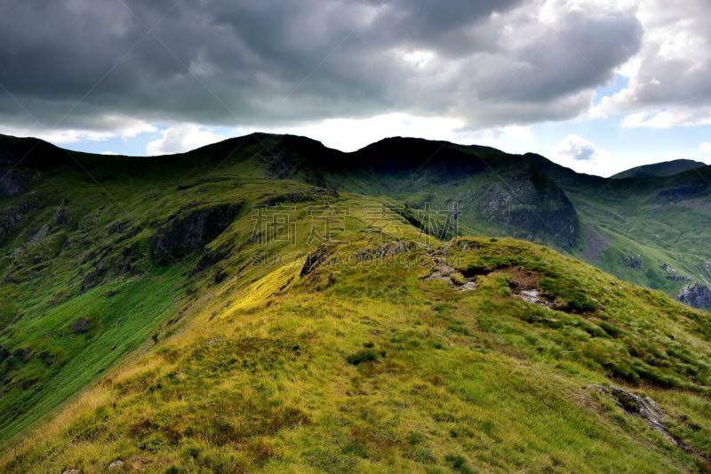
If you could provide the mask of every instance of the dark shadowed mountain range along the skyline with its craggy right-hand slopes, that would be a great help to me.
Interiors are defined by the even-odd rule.
[[[711,253],[700,250],[690,257],[682,255],[680,261],[667,245],[675,238],[671,237],[674,232],[688,236],[683,237],[688,246],[711,238],[711,229],[701,217],[700,225],[692,225],[693,233],[685,230],[691,224],[687,214],[703,213],[707,206],[711,167],[668,177],[617,180],[576,173],[535,153],[511,155],[491,147],[406,137],[383,139],[344,153],[308,137],[251,133],[159,157],[97,156],[33,139],[12,140],[23,143],[24,149],[36,146],[36,152],[25,160],[30,167],[70,165],[98,181],[126,173],[185,173],[219,167],[233,159],[252,160],[276,179],[297,178],[322,188],[385,195],[415,208],[436,205],[451,210],[454,206],[466,232],[553,245],[672,296],[682,292],[683,282],[669,279],[674,276],[662,266],[682,270],[699,283],[707,284],[711,278],[705,270]],[[5,175],[0,192],[17,192],[28,180],[20,174]],[[619,225],[619,216],[630,212],[642,214],[632,234]],[[664,229],[655,229],[659,224]],[[663,237],[662,230],[668,237]],[[627,245],[630,238],[642,247]],[[629,266],[634,255],[639,255],[641,266]]]

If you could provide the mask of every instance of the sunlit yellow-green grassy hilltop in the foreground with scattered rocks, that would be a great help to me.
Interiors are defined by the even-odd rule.
[[[7,451],[0,469],[703,468],[593,385],[648,392],[675,436],[708,454],[705,314],[514,240],[451,245],[450,263],[479,275],[473,292],[423,279],[434,248],[348,263],[370,244],[346,240],[311,276],[289,261],[213,289],[184,331]],[[511,266],[555,282],[558,303],[584,290],[595,309],[515,299],[505,271],[487,273]]]

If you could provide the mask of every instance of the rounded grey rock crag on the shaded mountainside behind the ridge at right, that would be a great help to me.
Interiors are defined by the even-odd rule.
[[[575,208],[563,189],[537,173],[495,182],[484,191],[478,211],[515,237],[543,238],[563,248],[570,248],[578,239]]]

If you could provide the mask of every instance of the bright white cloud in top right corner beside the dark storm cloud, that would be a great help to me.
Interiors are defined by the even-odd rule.
[[[711,125],[711,29],[708,2],[638,0],[642,48],[619,74],[627,86],[603,98],[595,113],[625,114],[625,128]]]

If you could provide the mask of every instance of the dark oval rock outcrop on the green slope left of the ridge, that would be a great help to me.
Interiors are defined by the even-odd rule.
[[[204,249],[229,227],[241,204],[213,205],[173,214],[151,239],[153,261],[165,265]]]

